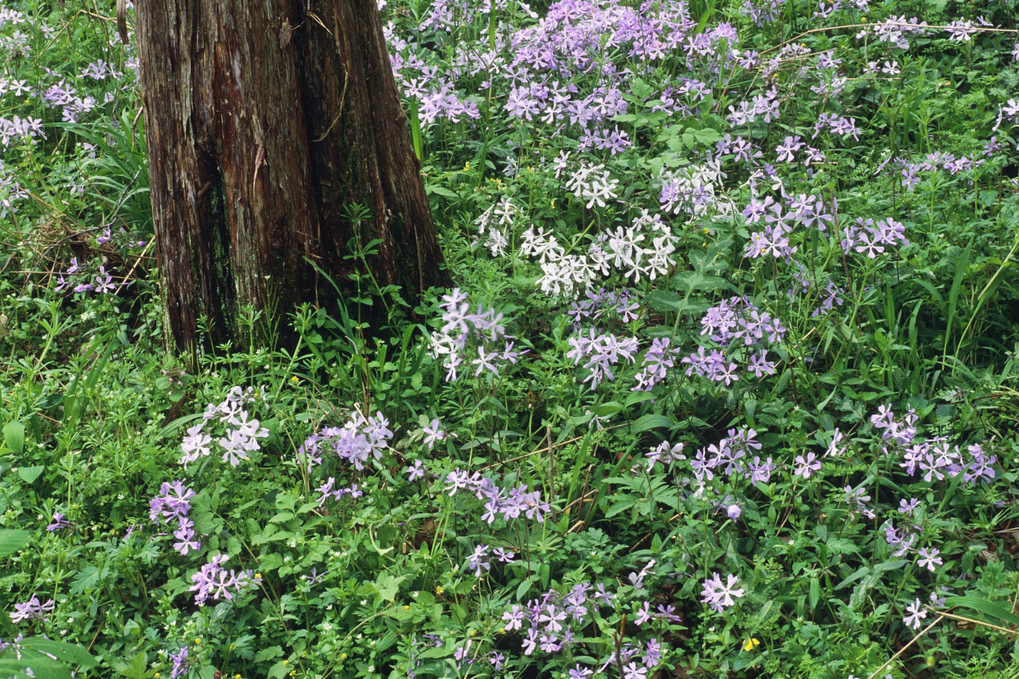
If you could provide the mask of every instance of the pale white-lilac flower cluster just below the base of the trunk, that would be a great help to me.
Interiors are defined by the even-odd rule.
[[[229,462],[231,467],[236,467],[242,460],[247,460],[249,453],[261,450],[258,440],[268,436],[269,430],[249,415],[248,408],[264,400],[265,394],[261,389],[256,390],[255,387],[249,386],[245,390],[234,386],[222,403],[219,405],[210,403],[202,416],[202,421],[187,428],[187,435],[180,443],[180,450],[183,452],[180,464],[191,464],[212,453],[212,435],[205,432],[205,427],[213,420],[218,420],[225,427],[225,435],[216,442],[222,449],[223,462]]]

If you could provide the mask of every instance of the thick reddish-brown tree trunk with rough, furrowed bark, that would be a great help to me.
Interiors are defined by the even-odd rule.
[[[237,340],[238,307],[327,304],[357,265],[447,284],[375,0],[146,0],[136,29],[168,341]],[[351,223],[348,206],[370,208]]]

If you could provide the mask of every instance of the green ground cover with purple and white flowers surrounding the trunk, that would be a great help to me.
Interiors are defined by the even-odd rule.
[[[1019,676],[1015,2],[383,1],[458,286],[197,366],[114,5],[0,8],[5,676]]]

